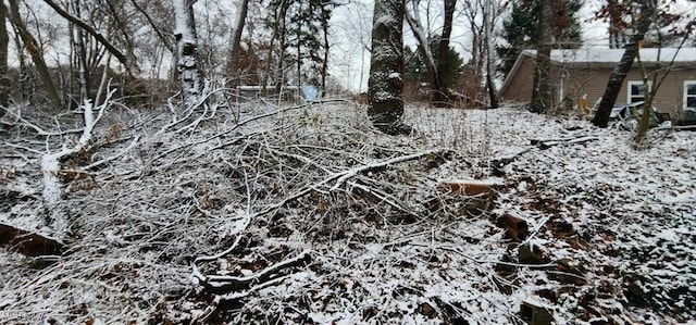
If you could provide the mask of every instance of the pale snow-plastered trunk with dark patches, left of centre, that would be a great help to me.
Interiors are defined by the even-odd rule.
[[[198,55],[198,37],[194,18],[194,2],[196,0],[174,1],[176,51],[178,61],[176,70],[182,83],[182,99],[184,104],[200,103],[203,96],[203,73],[200,70]]]

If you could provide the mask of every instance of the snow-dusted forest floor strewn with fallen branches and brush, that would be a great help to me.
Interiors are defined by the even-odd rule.
[[[696,320],[693,132],[636,149],[512,107],[409,105],[413,134],[385,136],[343,101],[113,105],[53,171],[52,234],[41,155],[67,137],[39,120],[2,125],[0,224],[65,248],[0,248],[2,324]]]

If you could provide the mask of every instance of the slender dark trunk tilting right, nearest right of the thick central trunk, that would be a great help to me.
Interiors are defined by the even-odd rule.
[[[448,66],[447,58],[449,54],[449,37],[452,34],[452,18],[455,16],[455,7],[457,0],[445,0],[445,23],[443,24],[443,34],[439,38],[439,45],[437,47],[437,86],[439,89],[433,93],[433,104],[435,107],[444,108],[449,107],[449,97],[447,96],[448,87],[447,80],[445,80],[446,70]]]

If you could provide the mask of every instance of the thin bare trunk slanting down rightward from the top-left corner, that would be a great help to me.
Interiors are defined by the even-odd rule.
[[[32,61],[36,66],[36,71],[39,74],[39,78],[41,79],[41,85],[44,86],[44,90],[48,96],[48,100],[57,111],[60,111],[63,108],[61,102],[61,98],[58,95],[58,90],[55,89],[55,85],[53,84],[53,79],[51,78],[51,74],[46,65],[46,61],[44,61],[44,55],[41,53],[41,49],[39,48],[39,43],[36,41],[34,36],[29,33],[24,21],[22,21],[22,16],[20,15],[20,7],[16,0],[9,0],[10,10],[4,7],[4,3],[0,1],[0,5],[2,5],[2,10],[9,13],[10,22],[12,26],[14,26],[16,33],[20,35],[22,42],[24,43],[25,49],[29,52],[32,57]]]

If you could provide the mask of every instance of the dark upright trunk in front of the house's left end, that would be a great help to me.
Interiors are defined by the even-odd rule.
[[[554,0],[542,0],[539,5],[539,40],[536,46],[536,68],[530,110],[546,113],[551,107],[551,47],[554,34]]]

